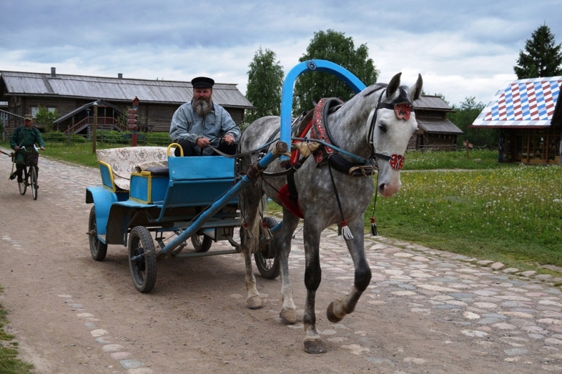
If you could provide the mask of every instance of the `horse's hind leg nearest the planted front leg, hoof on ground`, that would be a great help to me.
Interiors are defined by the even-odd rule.
[[[292,325],[296,322],[296,306],[293,300],[293,288],[289,279],[289,253],[291,252],[291,241],[296,227],[299,225],[299,218],[296,215],[283,210],[283,226],[281,228],[279,243],[279,265],[281,270],[281,300],[283,305],[279,316],[285,323]]]

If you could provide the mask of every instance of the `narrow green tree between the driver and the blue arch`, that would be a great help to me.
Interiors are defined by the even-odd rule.
[[[248,71],[246,98],[257,110],[246,112],[246,122],[251,123],[263,116],[280,114],[281,90],[283,86],[283,67],[275,61],[273,51],[261,48],[251,60]]]

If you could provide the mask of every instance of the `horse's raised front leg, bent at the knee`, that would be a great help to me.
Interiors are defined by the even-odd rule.
[[[353,222],[348,222],[348,227],[351,229],[353,239],[346,241],[346,244],[355,265],[355,281],[350,293],[344,298],[337,298],[328,305],[327,317],[332,323],[341,321],[346,314],[355,310],[355,305],[357,305],[361,294],[371,281],[371,269],[365,258],[362,217],[353,220]]]

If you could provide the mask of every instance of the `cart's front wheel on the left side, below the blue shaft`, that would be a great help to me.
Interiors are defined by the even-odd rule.
[[[156,253],[150,232],[137,226],[129,234],[129,268],[135,288],[148,293],[156,283]]]

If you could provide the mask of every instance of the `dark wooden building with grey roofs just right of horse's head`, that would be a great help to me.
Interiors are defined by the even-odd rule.
[[[447,119],[447,113],[455,112],[439,96],[421,95],[414,101],[417,131],[408,142],[408,149],[433,149],[454,151],[457,136],[463,131]]]

